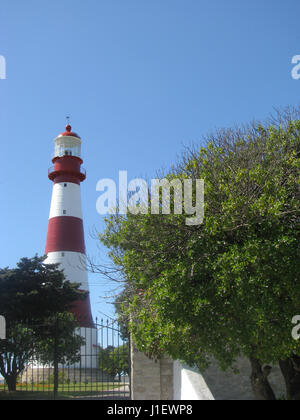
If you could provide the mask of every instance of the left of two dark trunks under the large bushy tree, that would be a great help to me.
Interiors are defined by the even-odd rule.
[[[255,358],[250,358],[250,362],[252,367],[251,385],[255,398],[259,401],[275,401],[275,394],[268,381],[271,368],[267,366],[263,369]]]

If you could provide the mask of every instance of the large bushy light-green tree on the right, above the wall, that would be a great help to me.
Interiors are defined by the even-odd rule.
[[[188,150],[166,178],[204,179],[200,226],[150,211],[107,220],[100,239],[126,276],[123,313],[141,351],[200,369],[247,357],[257,399],[275,399],[268,365],[280,362],[299,398],[299,134],[299,112],[287,113]]]

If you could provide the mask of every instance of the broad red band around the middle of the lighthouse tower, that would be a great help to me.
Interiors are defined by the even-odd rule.
[[[60,216],[49,220],[45,254],[71,251],[85,254],[83,222],[78,217]]]

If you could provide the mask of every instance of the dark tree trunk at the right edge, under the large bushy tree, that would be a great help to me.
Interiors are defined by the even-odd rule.
[[[300,357],[279,360],[279,366],[285,381],[287,399],[300,401]]]

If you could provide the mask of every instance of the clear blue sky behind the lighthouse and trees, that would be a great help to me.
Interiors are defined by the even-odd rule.
[[[299,104],[297,0],[2,0],[0,267],[43,254],[53,138],[71,116],[83,139],[89,255],[103,229],[96,183],[151,178],[218,127]],[[94,315],[114,288],[91,276]]]

